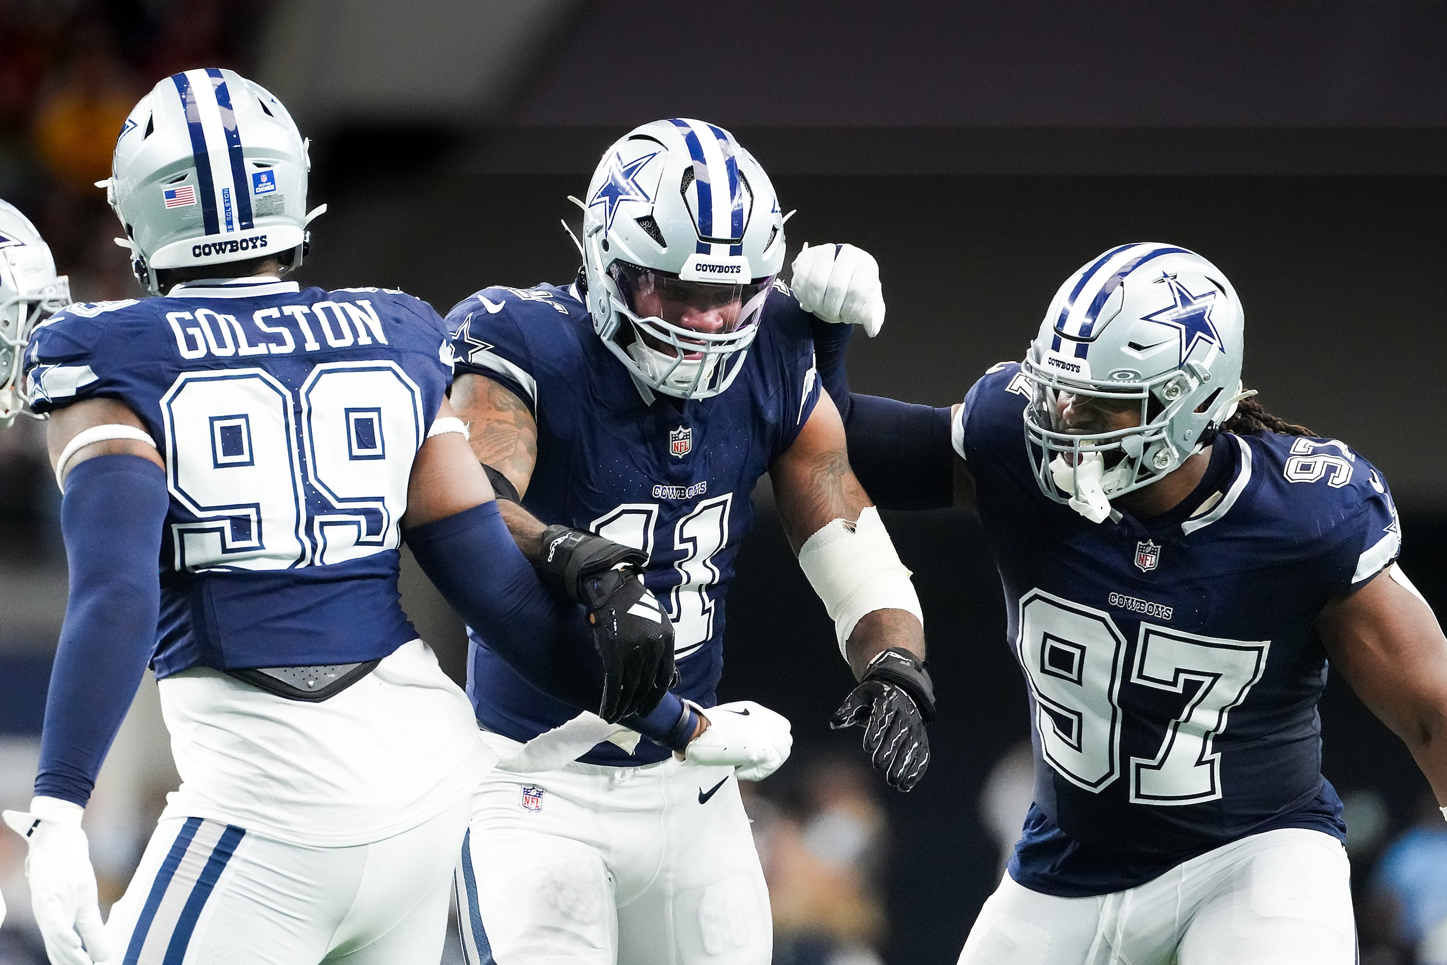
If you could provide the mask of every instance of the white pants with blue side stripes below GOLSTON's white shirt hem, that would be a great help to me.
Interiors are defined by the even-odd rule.
[[[106,932],[113,965],[437,965],[472,802],[368,845],[168,817]]]

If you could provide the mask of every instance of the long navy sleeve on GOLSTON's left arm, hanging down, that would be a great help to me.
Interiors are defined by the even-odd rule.
[[[36,794],[81,807],[90,800],[155,648],[168,508],[165,472],[139,456],[97,456],[65,479],[69,600],[45,699]]]

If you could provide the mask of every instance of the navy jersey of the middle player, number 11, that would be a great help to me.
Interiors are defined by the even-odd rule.
[[[734,383],[709,399],[651,401],[593,331],[576,286],[485,288],[453,308],[457,372],[511,389],[537,420],[522,505],[648,554],[644,582],[673,619],[680,697],[703,706],[724,668],[724,599],[754,521],[750,493],[819,398],[809,318],[783,282]],[[489,731],[527,741],[576,710],[527,684],[476,635],[467,693]],[[648,764],[601,744],[593,764]]]

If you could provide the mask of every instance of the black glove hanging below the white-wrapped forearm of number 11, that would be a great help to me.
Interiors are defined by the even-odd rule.
[[[935,684],[915,654],[891,647],[870,661],[864,680],[833,712],[833,729],[864,728],[864,751],[890,787],[909,791],[929,767],[929,735],[935,719]]]

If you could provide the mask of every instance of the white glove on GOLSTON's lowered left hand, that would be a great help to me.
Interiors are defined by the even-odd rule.
[[[25,858],[30,907],[52,965],[91,965],[110,958],[90,845],[81,830],[84,813],[71,802],[33,797],[29,812],[3,815],[4,823],[30,845]]]

